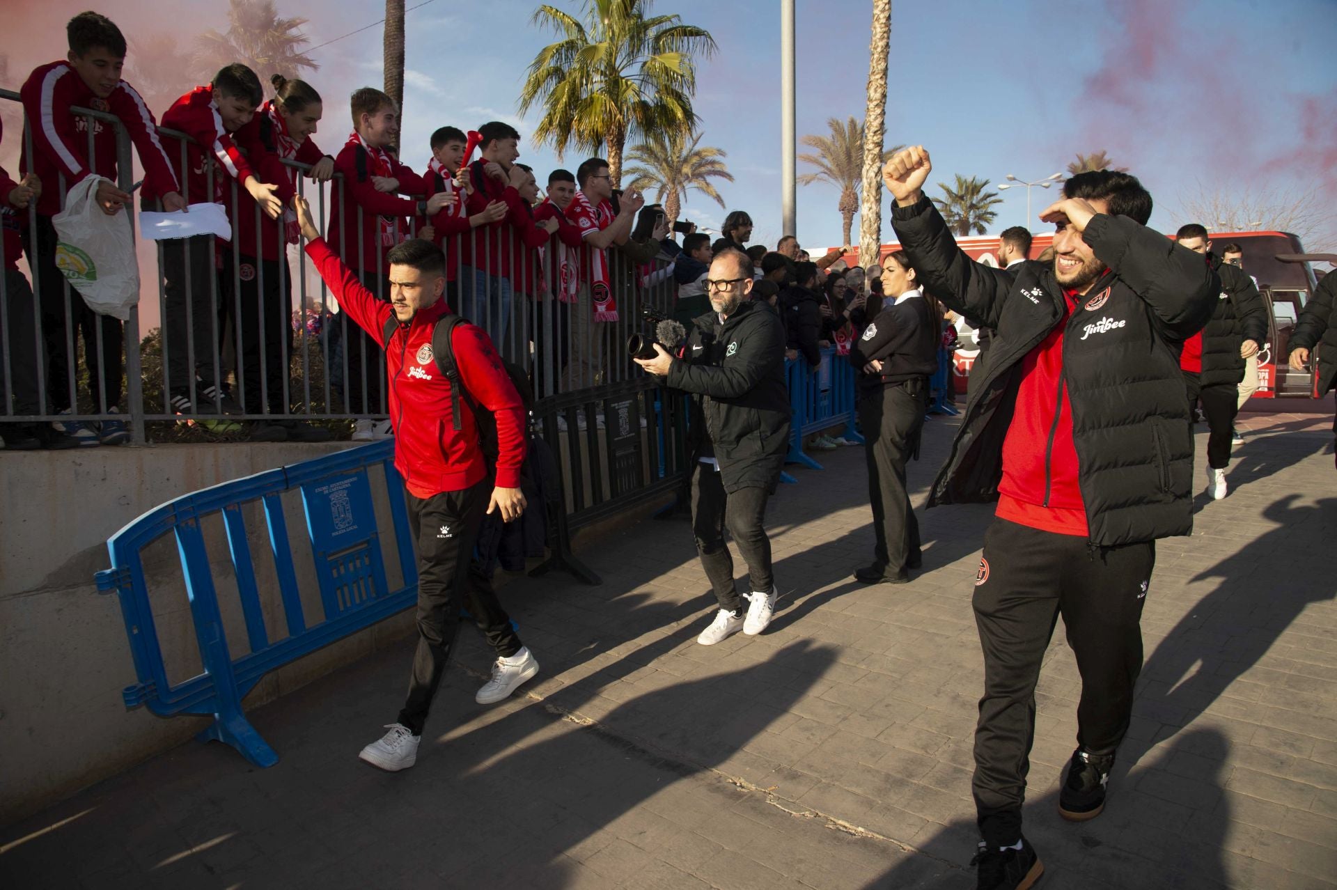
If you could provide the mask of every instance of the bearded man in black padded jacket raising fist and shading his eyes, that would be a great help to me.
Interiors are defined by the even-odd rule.
[[[924,290],[997,331],[929,506],[997,498],[975,581],[984,696],[973,792],[980,890],[1043,873],[1021,835],[1035,684],[1058,616],[1082,674],[1078,748],[1059,814],[1104,807],[1142,670],[1142,604],[1155,539],[1193,528],[1193,440],[1179,350],[1221,282],[1146,227],[1151,195],[1128,174],[1078,174],[1040,214],[1054,265],[971,261],[924,196],[915,146],[882,170],[892,225]]]

